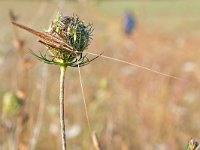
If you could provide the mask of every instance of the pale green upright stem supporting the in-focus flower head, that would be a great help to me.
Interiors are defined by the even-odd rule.
[[[64,81],[65,81],[65,66],[60,66],[60,125],[62,137],[62,150],[67,149],[66,134],[65,134],[65,115],[64,115]]]

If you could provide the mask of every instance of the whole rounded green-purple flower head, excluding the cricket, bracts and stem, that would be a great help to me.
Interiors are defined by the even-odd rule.
[[[62,16],[58,13],[52,21],[48,33],[69,45],[76,53],[52,46],[47,46],[48,50],[57,61],[67,66],[86,65],[90,60],[86,56],[83,56],[82,52],[89,46],[92,39],[92,32],[92,25],[85,25],[78,16]]]

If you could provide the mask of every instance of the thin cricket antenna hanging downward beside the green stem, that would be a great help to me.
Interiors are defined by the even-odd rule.
[[[80,85],[81,85],[81,93],[82,93],[82,97],[83,97],[83,103],[84,103],[87,124],[88,124],[88,128],[90,130],[90,133],[92,133],[92,128],[91,128],[91,124],[90,124],[90,120],[89,120],[88,108],[87,108],[87,104],[86,104],[86,100],[85,100],[85,94],[84,94],[83,83],[82,83],[82,78],[81,78],[81,70],[80,70],[79,64],[78,64],[78,74],[79,74],[79,81],[80,81]]]

